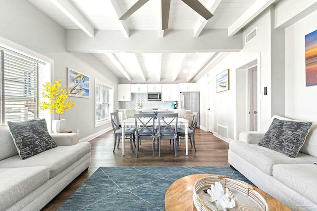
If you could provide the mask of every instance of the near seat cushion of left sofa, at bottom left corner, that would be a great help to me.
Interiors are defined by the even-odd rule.
[[[10,208],[47,182],[49,177],[47,167],[0,169],[0,210]]]

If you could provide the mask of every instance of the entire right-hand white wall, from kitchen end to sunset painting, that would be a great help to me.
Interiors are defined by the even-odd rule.
[[[236,105],[241,90],[240,84],[236,83],[241,78],[236,77],[236,69],[251,62],[257,55],[260,55],[258,57],[261,62],[258,67],[259,130],[266,130],[271,116],[275,114],[317,122],[317,86],[305,86],[305,35],[317,30],[316,2],[317,0],[278,1],[243,29],[244,38],[258,26],[258,37],[244,45],[240,52],[229,53],[218,64],[209,67],[212,77],[230,69],[230,90],[214,93],[214,134],[217,135],[219,124],[228,127],[229,140],[238,138],[242,128],[236,117],[241,116],[237,114],[244,112],[244,109],[239,109]],[[297,8],[289,10],[291,7]],[[206,84],[205,78],[206,76],[199,80],[200,87]],[[267,95],[263,95],[265,86]],[[206,116],[201,116],[201,119],[204,124]]]

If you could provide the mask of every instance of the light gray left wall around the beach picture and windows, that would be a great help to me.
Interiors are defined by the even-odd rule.
[[[66,130],[79,129],[80,139],[100,133],[111,124],[95,128],[95,79],[117,87],[118,78],[94,55],[70,53],[65,50],[65,29],[27,0],[0,1],[0,37],[27,47],[54,60],[54,80],[61,79],[67,84],[67,67],[90,77],[90,97],[69,97],[77,106],[66,111],[61,118],[66,119]],[[117,92],[114,93],[118,106]],[[55,115],[55,117],[57,117]]]

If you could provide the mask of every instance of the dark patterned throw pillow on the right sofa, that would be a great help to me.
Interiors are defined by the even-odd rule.
[[[258,145],[295,158],[305,142],[312,123],[274,118]]]

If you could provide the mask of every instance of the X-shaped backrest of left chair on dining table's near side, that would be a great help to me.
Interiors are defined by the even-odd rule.
[[[136,135],[155,135],[155,114],[140,113],[134,114]]]

